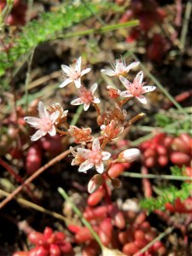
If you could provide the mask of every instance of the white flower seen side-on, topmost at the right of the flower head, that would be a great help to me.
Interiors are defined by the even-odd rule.
[[[126,66],[125,60],[116,60],[115,65],[112,63],[112,69],[107,68],[107,69],[102,69],[102,73],[107,74],[109,77],[119,77],[125,76],[126,73],[128,73],[131,68],[137,67],[139,65],[139,61],[134,61],[130,65]]]

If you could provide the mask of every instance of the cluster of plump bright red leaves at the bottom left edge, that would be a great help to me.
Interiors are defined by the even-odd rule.
[[[35,246],[28,252],[16,252],[13,256],[61,256],[73,255],[73,247],[63,232],[54,232],[49,227],[44,233],[32,231],[28,240]]]

